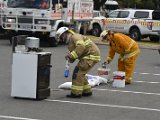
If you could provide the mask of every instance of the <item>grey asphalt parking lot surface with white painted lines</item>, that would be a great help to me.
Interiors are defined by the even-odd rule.
[[[102,61],[108,46],[99,44]],[[66,98],[70,90],[58,86],[71,81],[64,78],[67,46],[41,47],[51,52],[51,95],[37,101],[11,97],[12,48],[8,40],[0,40],[0,120],[159,120],[160,118],[160,55],[156,49],[143,49],[137,59],[133,83],[125,88],[100,84],[93,96],[81,99]],[[116,71],[118,55],[108,66]],[[77,61],[70,64],[70,73]],[[89,74],[97,75],[98,63]],[[23,70],[23,68],[22,68]]]

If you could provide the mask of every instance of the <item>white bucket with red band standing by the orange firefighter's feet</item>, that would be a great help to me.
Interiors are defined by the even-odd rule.
[[[122,71],[113,72],[112,87],[117,87],[117,88],[125,87],[125,72]]]

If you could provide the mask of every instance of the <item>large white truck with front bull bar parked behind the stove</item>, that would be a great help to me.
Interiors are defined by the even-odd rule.
[[[68,26],[85,34],[92,18],[93,0],[8,0],[2,24],[10,42],[13,36],[28,35],[57,46],[58,28]]]

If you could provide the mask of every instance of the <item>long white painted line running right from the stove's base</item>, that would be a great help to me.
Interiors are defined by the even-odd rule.
[[[123,109],[160,112],[160,109],[154,109],[154,108],[143,108],[143,107],[134,107],[134,106],[112,105],[112,104],[98,104],[98,103],[87,103],[87,102],[75,102],[75,101],[65,101],[65,100],[52,100],[52,99],[45,99],[45,100],[48,102],[59,102],[59,103],[70,103],[70,104],[89,105],[89,106],[98,106],[98,107],[110,107],[110,108],[120,108],[120,109],[123,108]]]

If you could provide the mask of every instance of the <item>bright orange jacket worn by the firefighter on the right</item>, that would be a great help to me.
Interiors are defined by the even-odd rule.
[[[138,44],[127,35],[121,33],[110,35],[109,42],[110,50],[108,58],[111,60],[115,53],[120,54],[121,57],[131,57],[140,52]]]

